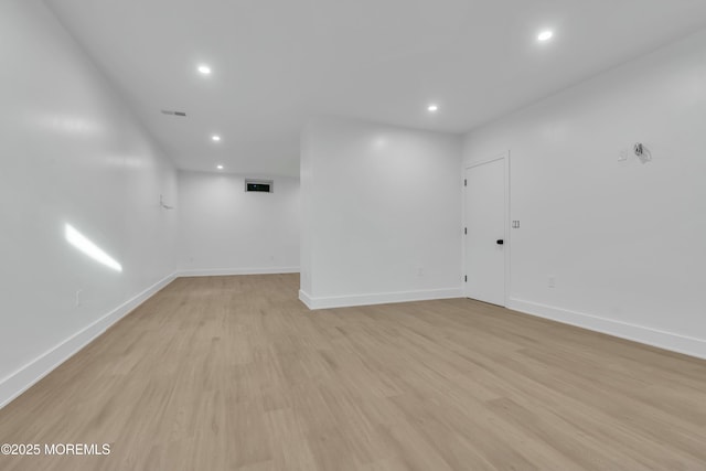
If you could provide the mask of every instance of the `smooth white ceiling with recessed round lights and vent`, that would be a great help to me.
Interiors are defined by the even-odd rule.
[[[462,132],[706,25],[704,0],[46,2],[179,168],[252,174],[297,175],[313,115]]]

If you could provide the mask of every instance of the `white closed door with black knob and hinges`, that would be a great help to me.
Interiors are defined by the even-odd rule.
[[[499,157],[466,169],[466,297],[505,306],[505,165]]]

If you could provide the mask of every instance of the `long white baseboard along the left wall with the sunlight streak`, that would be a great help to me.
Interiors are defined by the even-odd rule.
[[[49,350],[36,360],[2,378],[0,381],[0,409],[29,389],[34,385],[34,383],[50,374],[58,365],[78,353],[78,351],[84,346],[88,345],[97,336],[104,333],[106,329],[122,319],[125,315],[129,314],[137,307],[152,297],[157,291],[169,285],[174,278],[174,275],[169,275],[132,299],[118,306],[103,318],[64,340],[62,343]]]

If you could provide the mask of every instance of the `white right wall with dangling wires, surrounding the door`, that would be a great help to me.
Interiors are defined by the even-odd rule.
[[[470,132],[511,151],[510,307],[706,356],[705,130],[706,31]]]

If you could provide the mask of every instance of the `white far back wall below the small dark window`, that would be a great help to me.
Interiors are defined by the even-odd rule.
[[[267,179],[274,193],[246,193],[244,175],[179,172],[182,275],[299,271],[299,180]]]

